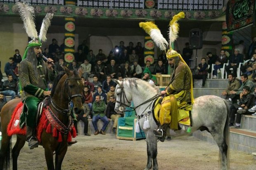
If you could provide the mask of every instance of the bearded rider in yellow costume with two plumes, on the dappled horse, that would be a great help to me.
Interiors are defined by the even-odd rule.
[[[178,129],[178,108],[194,103],[191,70],[180,54],[171,48],[171,43],[178,37],[179,26],[177,21],[184,17],[184,12],[180,12],[173,16],[173,20],[170,22],[170,49],[167,51],[166,57],[172,70],[171,81],[166,89],[161,91],[161,95],[164,95],[159,114],[161,128],[153,130],[155,136],[159,137],[161,142],[165,140],[168,127],[174,130]],[[140,23],[140,27],[152,37],[161,50],[166,50],[168,42],[156,25],[146,22]]]

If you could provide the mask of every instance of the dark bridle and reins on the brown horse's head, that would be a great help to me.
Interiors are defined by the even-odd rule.
[[[66,92],[68,93],[68,97],[69,97],[69,107],[68,107],[68,109],[63,109],[62,107],[59,107],[58,105],[56,105],[55,102],[53,102],[53,100],[52,100],[52,96],[50,96],[50,101],[51,101],[52,107],[58,113],[61,113],[61,114],[67,115],[67,116],[69,116],[71,114],[71,110],[72,110],[72,107],[73,107],[72,98],[75,98],[75,97],[81,97],[82,98],[81,94],[74,94],[74,95],[72,95],[70,93],[69,84],[68,84],[68,80],[70,80],[70,79],[81,80],[81,78],[71,77],[71,78],[66,78],[66,80],[65,80],[65,89],[66,89]]]

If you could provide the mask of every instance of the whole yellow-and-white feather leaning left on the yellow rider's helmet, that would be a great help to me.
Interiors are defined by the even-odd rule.
[[[168,47],[168,42],[161,34],[159,28],[152,22],[140,22],[140,28],[143,28],[147,34],[150,35],[152,40],[156,43],[156,46],[161,50],[166,50]]]

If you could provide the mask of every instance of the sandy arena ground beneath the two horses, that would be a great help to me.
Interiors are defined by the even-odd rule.
[[[145,140],[118,140],[111,134],[80,135],[76,140],[78,143],[68,148],[63,170],[144,170],[146,167]],[[230,157],[231,170],[256,169],[251,154],[230,150]],[[218,147],[192,136],[175,137],[158,143],[158,165],[159,170],[218,170]],[[47,169],[43,147],[30,150],[26,143],[18,158],[18,168]]]

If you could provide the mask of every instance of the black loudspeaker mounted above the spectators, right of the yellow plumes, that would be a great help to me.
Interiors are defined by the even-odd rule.
[[[203,47],[203,33],[200,28],[190,30],[190,49],[201,49]]]

